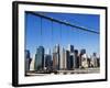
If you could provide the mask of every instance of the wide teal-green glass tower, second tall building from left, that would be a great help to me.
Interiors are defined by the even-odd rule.
[[[44,69],[44,47],[38,46],[35,54],[35,70]]]

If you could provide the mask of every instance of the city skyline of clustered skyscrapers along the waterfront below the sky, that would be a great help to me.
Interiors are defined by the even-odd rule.
[[[90,74],[99,73],[100,57],[97,53],[88,56],[86,50],[80,52],[74,48],[74,45],[68,45],[67,48],[56,44],[53,48],[47,50],[38,46],[35,57],[31,57],[29,50],[25,50],[25,75],[37,74]]]

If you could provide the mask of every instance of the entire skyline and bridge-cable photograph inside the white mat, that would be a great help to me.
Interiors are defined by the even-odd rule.
[[[24,15],[25,76],[100,73],[98,14],[25,11]]]

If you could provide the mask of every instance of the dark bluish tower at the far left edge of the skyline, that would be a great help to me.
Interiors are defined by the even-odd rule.
[[[30,70],[31,55],[30,51],[25,50],[25,72]]]

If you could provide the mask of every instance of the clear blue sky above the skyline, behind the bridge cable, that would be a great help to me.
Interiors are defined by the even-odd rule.
[[[100,16],[98,14],[42,13],[97,32],[100,29]],[[36,47],[40,45],[43,45],[46,51],[47,48],[52,50],[55,44],[59,44],[65,48],[67,48],[68,44],[72,44],[78,51],[86,48],[88,54],[92,54],[94,52],[99,53],[99,34],[81,31],[56,22],[52,24],[52,21],[46,19],[42,19],[41,30],[41,18],[25,13],[25,48],[30,50],[31,55],[36,52]]]

